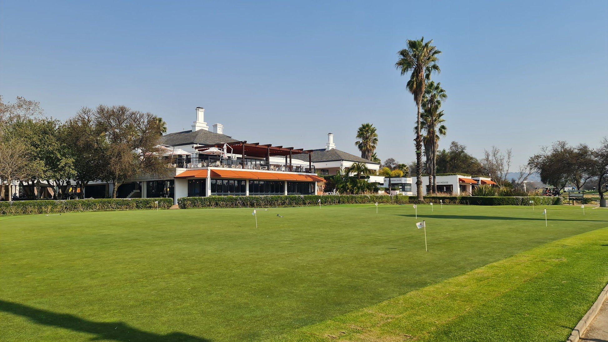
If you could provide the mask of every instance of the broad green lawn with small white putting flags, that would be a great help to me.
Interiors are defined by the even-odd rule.
[[[259,213],[257,230],[250,209],[1,217],[0,340],[331,340],[331,319],[362,322],[362,327],[380,323],[382,315],[370,313],[367,319],[362,309],[394,298],[403,307],[390,310],[426,310],[413,316],[418,330],[409,335],[475,340],[458,335],[459,327],[475,326],[483,318],[498,327],[492,336],[508,341],[519,336],[509,335],[519,332],[509,330],[505,308],[511,304],[553,303],[551,310],[528,306],[532,315],[547,317],[529,329],[556,329],[557,309],[567,307],[556,298],[578,291],[577,304],[560,318],[572,327],[606,280],[605,265],[587,272],[591,268],[583,262],[598,253],[606,256],[608,250],[592,248],[606,239],[606,230],[539,249],[581,244],[563,248],[564,255],[573,250],[566,257],[553,258],[565,262],[530,251],[535,254],[528,259],[527,252],[502,261],[511,262],[506,267],[499,263],[475,270],[604,228],[606,210],[587,210],[582,216],[580,208],[547,207],[545,227],[544,207],[435,207],[433,213],[428,205],[418,208],[418,221],[427,221],[429,252],[423,231],[414,226],[411,205],[381,206],[379,214],[370,205],[271,208]],[[517,268],[517,258],[531,268]],[[572,279],[589,283],[577,287],[564,279],[565,290],[551,292],[522,281],[551,272],[553,278],[578,276]],[[548,276],[547,283],[553,284],[553,278]],[[454,299],[432,290],[443,290],[445,284]],[[522,301],[517,295],[526,286],[531,286],[530,298]],[[462,307],[468,309],[463,313]],[[412,316],[404,317],[368,329],[365,336],[390,340],[396,331],[405,334]],[[494,331],[491,327],[486,323],[483,331]],[[500,329],[506,331],[501,335]],[[350,330],[335,333],[338,338],[362,336]]]

